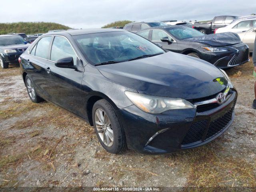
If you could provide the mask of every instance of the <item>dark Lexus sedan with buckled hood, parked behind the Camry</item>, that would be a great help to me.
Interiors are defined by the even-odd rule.
[[[137,32],[173,52],[200,58],[218,68],[231,68],[249,61],[249,48],[234,33],[205,35],[184,25],[154,27]]]

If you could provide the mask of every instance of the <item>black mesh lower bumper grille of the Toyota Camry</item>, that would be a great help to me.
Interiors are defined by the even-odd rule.
[[[209,127],[208,120],[194,122],[192,126],[190,126],[190,129],[188,130],[186,136],[184,137],[182,145],[188,145],[194,142],[204,142],[205,140],[212,138],[213,136],[221,132],[229,124],[229,122],[232,120],[233,112],[234,106],[223,116],[210,122]],[[204,138],[205,134],[206,137]]]

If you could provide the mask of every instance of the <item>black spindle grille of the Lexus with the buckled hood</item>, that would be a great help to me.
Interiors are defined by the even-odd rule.
[[[247,46],[236,47],[235,49],[239,50],[239,52],[232,57],[228,63],[229,66],[243,64],[249,59],[249,48]]]

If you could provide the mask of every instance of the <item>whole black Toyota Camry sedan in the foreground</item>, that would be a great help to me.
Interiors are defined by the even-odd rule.
[[[32,102],[84,119],[110,153],[201,146],[234,120],[237,92],[223,70],[121,29],[44,34],[20,68]]]

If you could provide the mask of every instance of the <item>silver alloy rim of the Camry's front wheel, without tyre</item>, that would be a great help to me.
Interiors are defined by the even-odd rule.
[[[98,108],[95,111],[94,120],[100,139],[106,146],[111,147],[114,142],[114,134],[108,115],[103,109]]]

